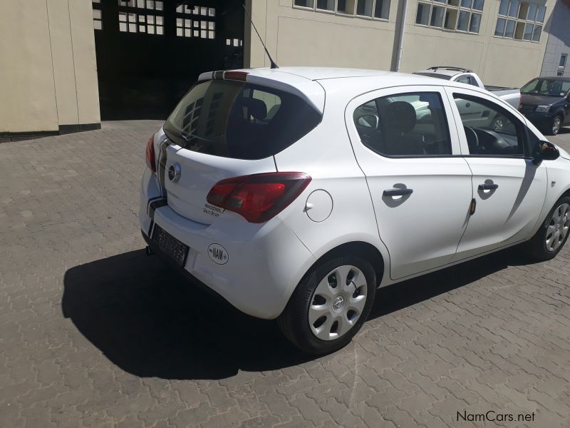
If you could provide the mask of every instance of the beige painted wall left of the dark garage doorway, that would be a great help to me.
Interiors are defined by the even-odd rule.
[[[100,122],[91,2],[3,1],[0,132]]]

